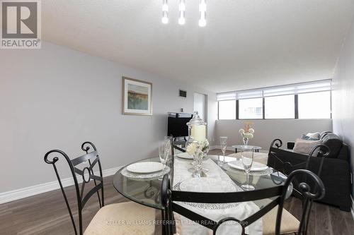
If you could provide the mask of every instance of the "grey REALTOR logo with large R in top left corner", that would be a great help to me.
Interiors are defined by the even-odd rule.
[[[40,49],[39,0],[1,0],[1,49]]]

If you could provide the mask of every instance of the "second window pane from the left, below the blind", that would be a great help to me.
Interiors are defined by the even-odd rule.
[[[263,119],[263,99],[239,100],[239,119]]]

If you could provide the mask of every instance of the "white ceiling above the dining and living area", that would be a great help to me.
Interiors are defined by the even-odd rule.
[[[353,0],[42,0],[43,40],[213,92],[331,78]],[[143,78],[140,78],[143,79]]]

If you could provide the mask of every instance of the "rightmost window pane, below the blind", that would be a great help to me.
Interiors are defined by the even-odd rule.
[[[299,94],[299,119],[331,119],[331,92]]]

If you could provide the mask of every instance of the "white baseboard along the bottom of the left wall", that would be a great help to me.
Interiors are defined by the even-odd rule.
[[[113,176],[113,174],[115,174],[115,172],[117,172],[120,168],[121,167],[115,167],[115,168],[103,170],[102,171],[103,177]],[[95,174],[97,174],[97,172],[95,172]],[[79,181],[79,183],[81,183],[82,178],[78,177],[78,181]],[[72,186],[72,185],[74,185],[74,179],[72,177],[69,177],[67,179],[62,179],[62,185],[63,185],[63,187]],[[40,183],[35,186],[16,189],[13,191],[7,191],[4,193],[0,193],[0,204],[8,203],[13,200],[18,200],[21,198],[27,198],[27,197],[30,197],[33,195],[38,195],[40,193],[46,193],[46,192],[53,191],[53,190],[56,190],[59,188],[60,188],[60,186],[59,186],[58,181],[52,181],[52,182],[47,182],[47,183]]]

